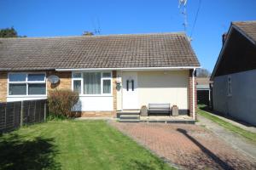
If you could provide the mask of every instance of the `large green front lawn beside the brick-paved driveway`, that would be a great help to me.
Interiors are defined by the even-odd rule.
[[[45,122],[0,136],[0,169],[172,169],[103,121]]]

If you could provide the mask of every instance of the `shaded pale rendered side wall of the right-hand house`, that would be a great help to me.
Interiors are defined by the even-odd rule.
[[[232,94],[228,96],[228,77]],[[256,125],[256,70],[214,77],[213,109]]]

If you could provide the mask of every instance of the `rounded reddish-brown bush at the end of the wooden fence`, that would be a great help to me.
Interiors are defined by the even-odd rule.
[[[71,111],[73,105],[78,103],[79,94],[69,89],[53,90],[49,92],[49,111],[54,117],[73,117],[75,112]]]

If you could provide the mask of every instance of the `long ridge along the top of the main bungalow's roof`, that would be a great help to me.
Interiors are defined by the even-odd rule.
[[[88,38],[88,37],[129,37],[129,36],[157,36],[157,35],[183,35],[186,33],[183,31],[177,32],[155,32],[155,33],[132,33],[132,34],[106,34],[106,35],[95,35],[95,36],[55,36],[55,37],[0,37],[1,40],[5,39],[47,39],[47,38]]]

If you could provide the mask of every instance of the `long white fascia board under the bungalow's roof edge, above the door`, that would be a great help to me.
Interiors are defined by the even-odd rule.
[[[198,69],[200,66],[179,67],[134,67],[134,68],[81,68],[81,69],[55,69],[55,71],[167,71]]]

